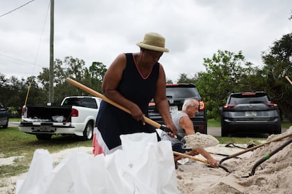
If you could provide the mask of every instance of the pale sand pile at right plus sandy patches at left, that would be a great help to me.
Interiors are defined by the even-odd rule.
[[[292,133],[292,127],[284,134]],[[279,137],[271,135],[267,141]],[[223,168],[211,168],[203,162],[197,162],[190,159],[181,160],[181,165],[176,170],[177,184],[182,194],[190,193],[291,193],[292,185],[292,144],[289,144],[281,151],[275,153],[270,159],[255,168],[255,174],[250,175],[255,163],[271,153],[275,148],[284,144],[287,139],[278,142],[272,142],[266,146],[255,149],[239,155],[240,158],[232,158],[222,163],[231,173]],[[244,146],[246,145],[239,145]],[[241,148],[226,147],[225,144],[218,144],[206,148],[213,153],[223,153],[231,155],[243,151]],[[60,162],[72,151],[91,153],[91,147],[71,148],[59,153],[52,153],[53,161]],[[198,157],[201,157],[200,155]],[[220,161],[224,156],[213,155]],[[0,165],[12,164],[13,157],[1,158]],[[250,175],[250,176],[248,176]],[[247,176],[247,177],[246,177]],[[17,180],[24,179],[26,173],[17,177],[8,177],[0,180],[0,193],[15,193],[15,183]]]

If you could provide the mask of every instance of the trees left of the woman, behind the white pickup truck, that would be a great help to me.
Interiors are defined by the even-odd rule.
[[[61,104],[69,95],[88,95],[83,90],[66,82],[70,77],[93,90],[101,92],[102,79],[107,68],[101,62],[94,61],[86,68],[82,59],[65,57],[54,61],[54,100],[53,104]],[[48,102],[49,69],[43,68],[37,77],[30,76],[18,79],[12,76],[6,79],[0,73],[0,103],[7,106],[12,117],[19,117],[24,104],[44,105]]]

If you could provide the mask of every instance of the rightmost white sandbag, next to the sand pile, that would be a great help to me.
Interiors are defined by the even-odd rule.
[[[132,182],[150,188],[148,193],[180,193],[170,142],[157,142],[156,133],[121,135],[120,139],[128,162],[126,172],[129,177],[136,177]],[[141,188],[140,191],[145,190]]]

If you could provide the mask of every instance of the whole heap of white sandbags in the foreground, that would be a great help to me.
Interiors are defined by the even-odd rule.
[[[52,161],[46,165],[48,168],[32,162],[28,177],[16,194],[180,193],[170,142],[157,142],[155,133],[135,133],[120,138],[122,150],[109,155],[93,157],[72,153],[54,169],[49,167],[53,166]],[[36,153],[38,151],[35,151],[33,161],[39,160]],[[35,165],[47,168],[43,170],[46,173],[38,175]],[[39,178],[37,184],[33,182],[36,178]]]

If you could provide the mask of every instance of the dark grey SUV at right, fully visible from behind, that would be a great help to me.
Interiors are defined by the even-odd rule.
[[[221,108],[221,136],[281,133],[280,111],[265,92],[232,93]]]

